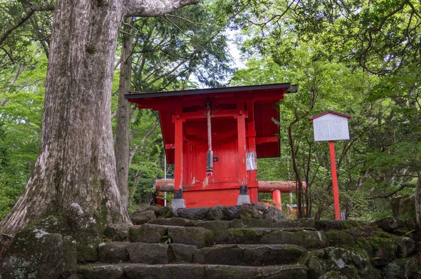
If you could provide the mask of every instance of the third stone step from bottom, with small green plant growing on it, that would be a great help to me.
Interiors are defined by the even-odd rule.
[[[293,244],[306,249],[326,247],[327,241],[314,228],[291,227],[208,230],[193,226],[163,226],[143,224],[131,227],[131,240],[135,243],[172,243],[195,245],[199,248],[215,244]]]

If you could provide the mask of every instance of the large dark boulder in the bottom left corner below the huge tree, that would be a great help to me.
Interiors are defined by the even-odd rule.
[[[0,261],[0,276],[15,278],[59,278],[65,266],[63,238],[60,233],[40,229],[24,229],[16,234],[4,259]],[[74,265],[75,266],[75,265]]]

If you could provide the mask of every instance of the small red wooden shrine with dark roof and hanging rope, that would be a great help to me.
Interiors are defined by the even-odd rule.
[[[279,157],[276,102],[297,89],[276,83],[125,97],[139,109],[159,111],[167,163],[175,163],[175,172],[174,180],[156,186],[173,185],[173,207],[211,207],[257,202],[258,191],[276,193],[280,202],[281,191],[295,189],[295,182],[258,182],[255,160]]]

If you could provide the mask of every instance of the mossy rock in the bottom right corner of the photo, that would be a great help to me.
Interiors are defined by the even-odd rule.
[[[406,279],[413,278],[420,271],[415,258],[395,259],[382,268],[384,279]]]

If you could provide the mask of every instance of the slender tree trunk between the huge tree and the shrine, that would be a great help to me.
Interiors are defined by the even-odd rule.
[[[131,18],[126,18],[126,23],[131,22]],[[130,153],[129,122],[130,104],[124,98],[131,86],[131,54],[133,48],[133,38],[130,25],[124,25],[123,46],[121,48],[120,82],[119,82],[119,108],[117,112],[116,125],[116,179],[121,194],[123,208],[128,207],[128,167]]]

